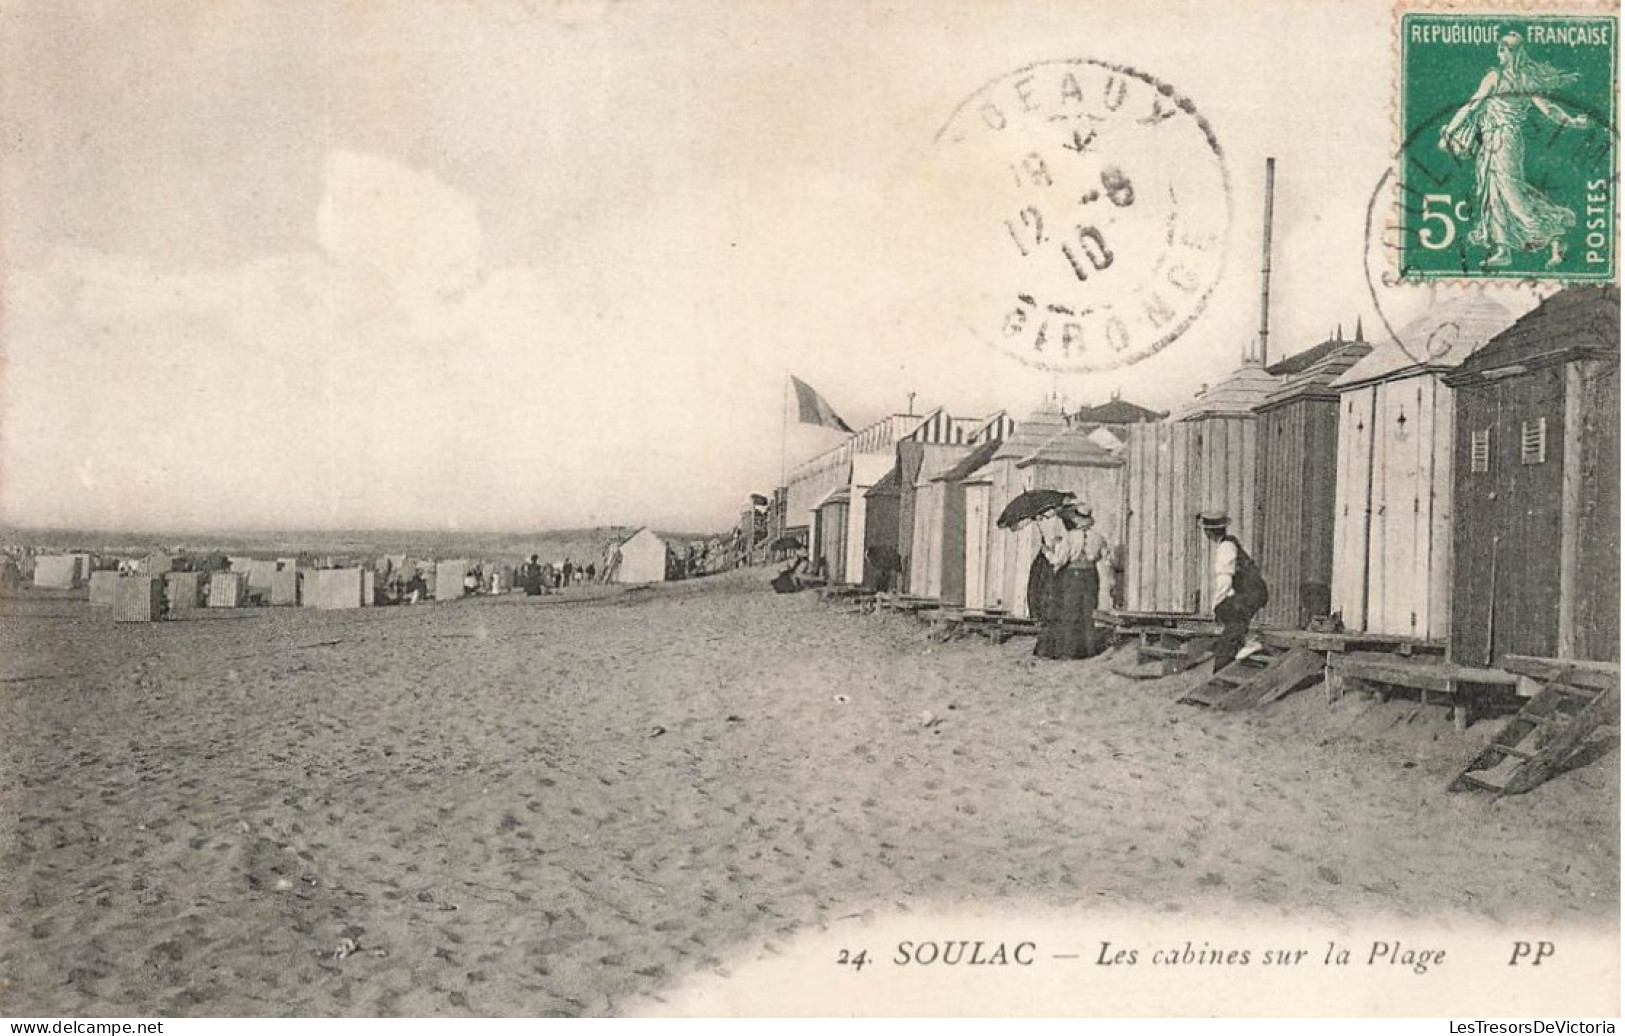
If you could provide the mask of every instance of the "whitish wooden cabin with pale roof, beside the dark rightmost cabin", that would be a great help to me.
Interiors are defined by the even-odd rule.
[[[1510,323],[1487,299],[1436,307],[1331,383],[1331,609],[1344,628],[1450,637],[1456,396],[1443,377]]]

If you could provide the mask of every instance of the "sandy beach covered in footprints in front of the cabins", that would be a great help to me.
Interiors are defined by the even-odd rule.
[[[1617,932],[1617,740],[1176,705],[1030,641],[653,589],[114,625],[0,601],[3,1015],[616,1015],[873,911]],[[658,1010],[658,1007],[656,1007]]]

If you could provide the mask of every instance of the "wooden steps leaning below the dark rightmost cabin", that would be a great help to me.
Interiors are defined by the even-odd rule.
[[[1539,690],[1495,740],[1451,781],[1450,791],[1518,796],[1557,776],[1586,739],[1618,723],[1618,671],[1511,656],[1502,666],[1539,682]]]

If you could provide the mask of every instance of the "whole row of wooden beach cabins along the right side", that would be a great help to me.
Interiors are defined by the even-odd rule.
[[[1072,490],[1116,547],[1102,607],[1207,615],[1194,516],[1222,508],[1271,586],[1261,625],[1617,661],[1618,335],[1615,287],[1570,287],[1516,322],[1476,299],[1398,341],[1243,357],[1170,416],[892,416],[791,473],[778,531],[832,581],[1024,617],[1037,533],[996,518]]]

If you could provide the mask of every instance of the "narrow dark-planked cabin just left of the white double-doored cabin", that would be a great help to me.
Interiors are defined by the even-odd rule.
[[[1337,497],[1337,391],[1372,352],[1357,323],[1269,367],[1280,385],[1258,404],[1258,539],[1250,546],[1269,586],[1263,625],[1305,628],[1329,615]]]

